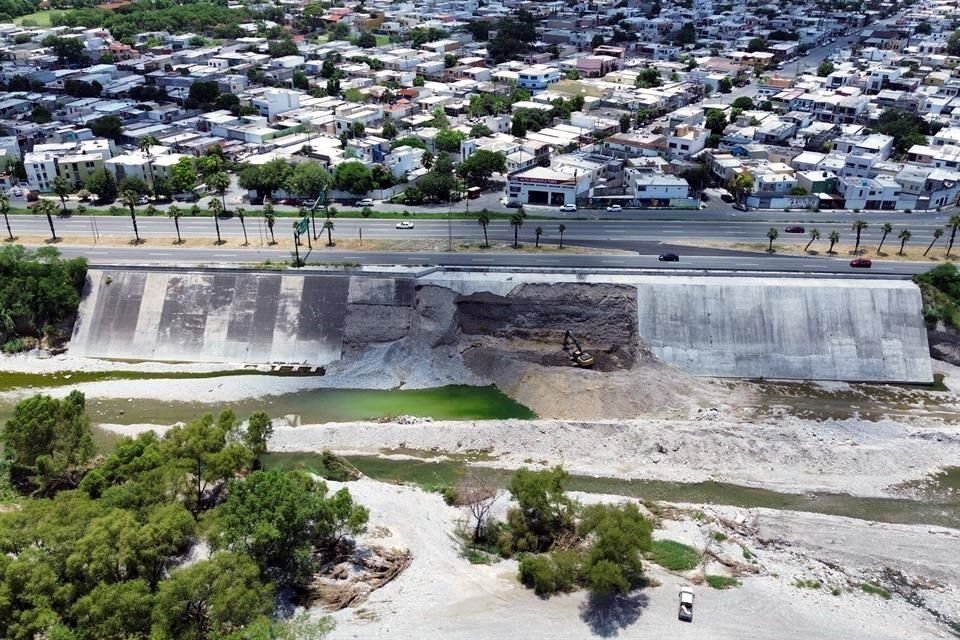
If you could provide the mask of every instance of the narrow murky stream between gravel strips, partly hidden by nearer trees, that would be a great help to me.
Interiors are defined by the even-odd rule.
[[[379,456],[348,456],[347,459],[364,475],[384,482],[416,484],[425,489],[456,483],[463,473],[461,461],[436,459],[388,459]],[[271,453],[267,467],[300,468],[323,474],[319,454]],[[512,471],[491,469],[501,485],[509,483]],[[951,468],[932,477],[938,486],[949,487],[960,477],[960,468]],[[944,487],[944,488],[946,488]],[[960,495],[940,493],[940,499],[914,500],[896,498],[861,498],[843,493],[792,494],[756,489],[722,482],[665,482],[660,480],[623,480],[570,476],[567,488],[586,493],[630,496],[643,500],[663,500],[692,504],[716,504],[736,507],[763,507],[791,511],[808,511],[846,516],[862,520],[898,524],[928,524],[960,528]]]

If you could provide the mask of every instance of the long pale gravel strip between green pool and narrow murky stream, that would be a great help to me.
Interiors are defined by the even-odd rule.
[[[628,422],[483,421],[278,427],[276,451],[370,454],[383,449],[490,451],[495,466],[562,464],[621,478],[714,480],[778,491],[890,495],[888,487],[960,465],[960,427],[892,420],[743,423],[710,419]]]

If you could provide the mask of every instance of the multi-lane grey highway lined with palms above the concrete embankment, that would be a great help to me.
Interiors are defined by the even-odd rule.
[[[800,214],[805,217],[806,214]],[[891,219],[896,219],[891,217]],[[15,232],[22,236],[40,238],[49,235],[45,218],[39,216],[17,216],[14,221]],[[434,246],[445,247],[445,240],[452,239],[454,248],[465,240],[479,243],[483,232],[479,224],[469,220],[414,220],[413,229],[397,229],[395,220],[376,219],[339,219],[335,221],[334,239],[359,239],[360,231],[364,240],[427,239]],[[911,219],[912,224],[894,228],[886,240],[885,250],[895,253],[899,247],[896,238],[898,229],[909,226],[913,233],[913,246],[926,246],[933,237],[933,229],[942,227],[938,221]],[[844,242],[852,242],[853,232],[848,221],[816,222],[811,225],[802,220],[807,230],[816,226],[821,239],[813,248],[824,252],[828,246],[829,233],[837,230]],[[176,263],[176,264],[233,264],[256,263],[266,260],[285,261],[289,259],[289,250],[271,248],[267,243],[268,233],[261,218],[247,217],[246,226],[250,246],[236,247],[236,242],[226,246],[214,245],[215,226],[210,217],[183,218],[180,221],[184,238],[209,240],[207,247],[178,247],[173,244],[175,231],[172,221],[165,218],[138,218],[140,235],[147,242],[140,246],[117,247],[117,238],[132,239],[133,227],[129,217],[73,217],[55,220],[57,234],[84,241],[87,246],[74,243],[62,244],[65,255],[84,255],[92,263]],[[543,229],[541,242],[556,244],[559,240],[557,220],[528,219],[520,231],[520,240],[528,248],[534,243],[534,230]],[[370,251],[352,249],[328,249],[323,241],[318,241],[312,252],[304,250],[309,263],[356,263],[356,264],[399,264],[399,265],[463,265],[485,266],[537,266],[545,268],[659,268],[670,270],[714,270],[742,272],[808,272],[841,275],[888,275],[906,276],[926,270],[929,263],[896,261],[875,261],[870,270],[853,269],[849,266],[849,256],[799,257],[786,255],[768,255],[756,251],[737,250],[736,244],[760,245],[767,242],[766,233],[771,226],[780,231],[778,243],[806,243],[807,234],[785,233],[787,223],[769,221],[664,221],[664,220],[565,220],[564,242],[569,245],[589,246],[598,249],[618,249],[629,253],[613,255],[586,255],[577,253],[517,252],[509,248],[491,249],[473,252],[444,251]],[[283,218],[278,221],[275,232],[278,236],[291,233],[292,220]],[[242,237],[238,220],[221,220],[220,232],[225,239],[237,240]],[[491,242],[504,243],[513,240],[513,229],[506,221],[497,220],[487,229]],[[862,233],[862,245],[868,249],[868,255],[875,252],[882,230],[880,224],[872,224]],[[96,242],[95,242],[96,236]],[[112,239],[107,246],[104,241]],[[720,242],[724,247],[688,246],[684,242],[698,241]],[[940,240],[939,247],[932,253],[942,254],[947,237]],[[658,255],[675,252],[680,255],[679,262],[660,262]]]

